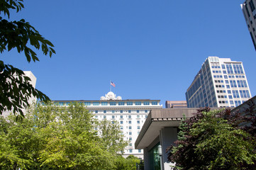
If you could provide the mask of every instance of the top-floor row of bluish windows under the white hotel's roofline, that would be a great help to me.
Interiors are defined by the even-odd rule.
[[[59,106],[68,106],[70,104],[70,102],[55,102],[57,105]],[[149,106],[150,104],[151,105],[158,105],[158,102],[157,101],[94,101],[94,102],[90,102],[90,101],[84,101],[84,102],[79,102],[79,103],[83,103],[85,106],[141,106],[141,105],[144,105],[144,106]]]

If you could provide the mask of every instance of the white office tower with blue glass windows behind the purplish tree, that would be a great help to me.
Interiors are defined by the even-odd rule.
[[[186,92],[188,108],[236,107],[251,98],[242,62],[208,57]]]

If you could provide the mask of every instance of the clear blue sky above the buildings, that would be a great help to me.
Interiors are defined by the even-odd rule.
[[[16,50],[1,60],[37,77],[52,100],[98,100],[109,91],[123,99],[185,100],[208,56],[242,61],[256,95],[256,52],[243,1],[28,0],[21,13],[55,45],[28,64]]]

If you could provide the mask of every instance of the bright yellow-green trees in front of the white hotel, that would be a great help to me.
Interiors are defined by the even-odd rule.
[[[124,142],[116,134],[121,131],[99,135],[99,122],[82,103],[67,107],[38,104],[22,121],[14,115],[0,120],[0,169],[108,170],[134,164],[122,161],[121,147],[108,147],[112,137],[116,143]],[[108,127],[118,126],[111,123]]]

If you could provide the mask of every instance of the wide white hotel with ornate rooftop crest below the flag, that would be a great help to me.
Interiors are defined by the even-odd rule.
[[[133,154],[135,157],[143,159],[143,150],[135,149],[135,140],[140,133],[143,124],[150,110],[162,108],[160,100],[149,99],[127,99],[122,100],[121,96],[116,96],[112,91],[105,96],[101,96],[99,101],[55,101],[60,106],[67,106],[72,102],[84,103],[87,109],[94,113],[94,118],[98,120],[117,121],[121,125],[121,130],[125,140],[129,141],[128,147],[124,150],[123,156]]]

